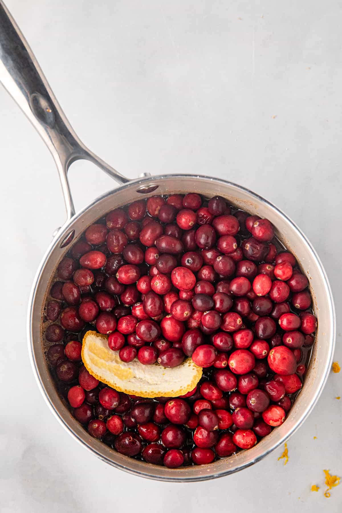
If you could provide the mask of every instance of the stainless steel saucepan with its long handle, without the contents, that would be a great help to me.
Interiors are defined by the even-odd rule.
[[[307,418],[323,390],[332,362],[335,339],[333,299],[325,270],[310,242],[287,215],[244,187],[209,176],[187,174],[145,176],[129,181],[98,159],[73,131],[23,34],[1,1],[0,56],[0,80],[50,149],[57,165],[67,208],[67,221],[55,234],[37,271],[28,309],[27,332],[32,367],[38,386],[50,409],[70,434],[100,459],[116,468],[151,479],[163,481],[212,479],[241,470],[264,458],[284,443]],[[79,159],[93,162],[119,182],[120,186],[100,196],[88,207],[75,214],[67,171],[70,164]],[[208,198],[219,193],[239,208],[268,218],[276,227],[279,239],[296,255],[303,272],[308,275],[314,311],[318,317],[318,329],[304,387],[283,425],[274,429],[252,449],[240,451],[230,458],[218,460],[210,465],[168,469],[120,455],[102,442],[90,437],[72,417],[59,398],[50,376],[43,352],[41,321],[42,308],[47,290],[50,288],[51,277],[68,251],[71,241],[75,242],[88,225],[102,218],[109,210],[142,197],[146,198],[153,193],[177,192],[198,192]]]

